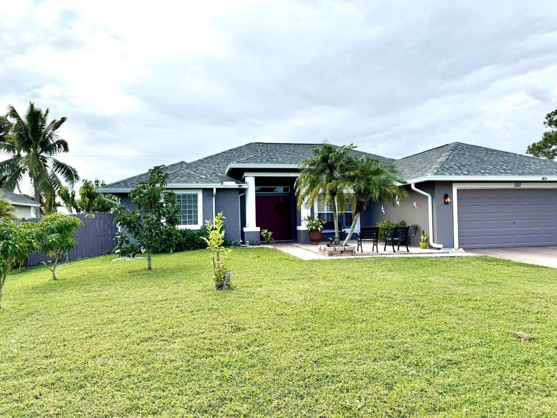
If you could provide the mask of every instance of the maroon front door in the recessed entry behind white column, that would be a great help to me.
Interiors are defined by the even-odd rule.
[[[292,207],[290,196],[256,196],[257,226],[273,232],[275,241],[292,239]]]

